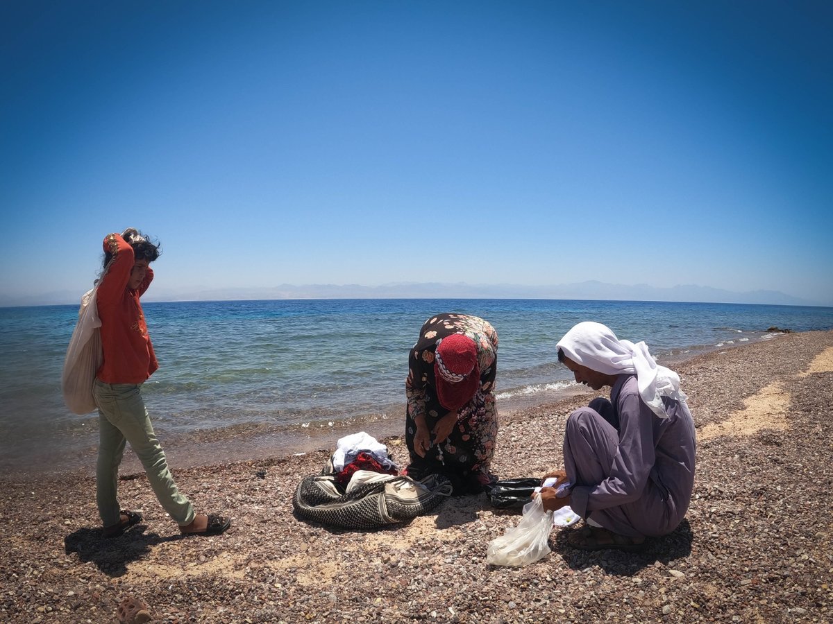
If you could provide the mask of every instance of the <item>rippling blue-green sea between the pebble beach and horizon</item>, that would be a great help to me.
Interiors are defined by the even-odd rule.
[[[408,349],[437,312],[477,314],[495,326],[501,410],[568,389],[571,378],[554,347],[581,320],[644,339],[666,363],[772,339],[771,326],[833,329],[833,308],[780,305],[268,300],[143,307],[160,369],[142,394],[169,457],[180,463],[282,454],[305,440],[314,445],[320,430],[398,433]],[[61,396],[76,319],[74,305],[0,308],[0,469],[94,463],[97,415],[70,414]]]

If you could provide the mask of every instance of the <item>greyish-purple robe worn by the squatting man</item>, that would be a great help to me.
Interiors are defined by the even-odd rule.
[[[636,375],[621,374],[611,401],[570,414],[564,466],[575,513],[628,537],[666,535],[680,524],[694,489],[694,422],[685,404],[662,400],[668,418],[642,401]]]

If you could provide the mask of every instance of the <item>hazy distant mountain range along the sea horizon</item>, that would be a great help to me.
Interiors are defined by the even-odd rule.
[[[31,297],[0,295],[0,306],[77,303],[81,293],[49,293]],[[464,283],[396,283],[379,286],[282,284],[267,288],[171,290],[154,287],[147,301],[212,301],[267,299],[572,299],[619,301],[702,301],[732,304],[831,305],[786,295],[777,290],[734,292],[710,286],[677,285],[657,288],[647,284],[606,284],[596,280],[549,286],[471,285]]]

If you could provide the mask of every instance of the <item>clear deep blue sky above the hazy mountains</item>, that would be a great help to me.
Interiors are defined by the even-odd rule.
[[[0,5],[0,295],[601,280],[833,305],[831,2]]]

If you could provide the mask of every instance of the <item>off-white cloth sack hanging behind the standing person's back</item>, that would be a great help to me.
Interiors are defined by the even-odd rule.
[[[100,281],[98,282],[101,283]],[[87,290],[81,297],[78,322],[69,339],[67,357],[63,360],[61,389],[63,402],[72,414],[89,414],[97,409],[92,398],[92,384],[96,372],[104,361],[102,338],[99,328],[96,292],[98,285]]]

